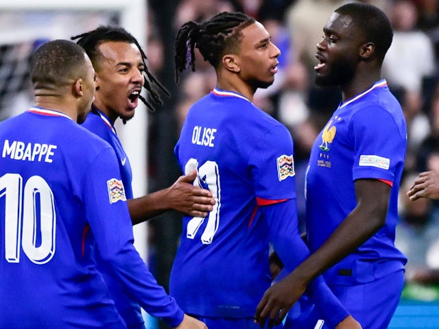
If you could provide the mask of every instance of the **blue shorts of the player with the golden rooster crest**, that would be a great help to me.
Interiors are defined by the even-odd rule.
[[[396,271],[379,280],[353,286],[329,285],[351,315],[367,329],[387,329],[399,304],[404,287],[404,270]],[[314,328],[322,315],[313,304],[302,305],[307,317],[287,317],[284,329]],[[303,314],[302,314],[303,315]],[[327,323],[322,329],[333,329]]]

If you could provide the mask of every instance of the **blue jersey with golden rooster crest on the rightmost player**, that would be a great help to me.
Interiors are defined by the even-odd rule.
[[[377,179],[392,185],[385,226],[324,274],[329,284],[370,282],[405,265],[406,258],[394,246],[394,238],[406,146],[403,112],[385,80],[342,103],[317,137],[305,186],[311,251],[357,205],[355,180]]]

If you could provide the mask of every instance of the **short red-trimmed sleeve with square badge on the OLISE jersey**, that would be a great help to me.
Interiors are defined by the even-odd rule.
[[[254,191],[260,199],[296,197],[293,141],[283,125],[274,125],[258,136],[248,155]]]

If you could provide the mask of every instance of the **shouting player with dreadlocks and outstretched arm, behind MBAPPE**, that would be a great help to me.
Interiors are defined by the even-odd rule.
[[[114,123],[118,118],[124,122],[132,119],[139,98],[152,108],[152,105],[140,96],[143,86],[154,103],[161,103],[161,99],[153,87],[158,86],[165,90],[148,71],[146,56],[139,42],[122,27],[112,26],[101,26],[72,39],[78,39],[78,45],[85,49],[96,72],[95,100],[83,126],[115,149],[132,223],[141,223],[169,209],[179,210],[191,216],[206,216],[215,202],[210,191],[191,184],[195,179],[195,171],[180,177],[170,188],[133,198],[130,161],[119,141]],[[112,276],[110,269],[103,263],[101,265],[101,262],[99,269],[128,327],[145,328],[139,304],[132,300]]]

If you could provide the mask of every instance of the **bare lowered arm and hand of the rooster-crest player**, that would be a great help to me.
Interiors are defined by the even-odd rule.
[[[355,195],[357,206],[327,241],[292,273],[265,291],[255,313],[259,323],[289,309],[311,280],[354,252],[385,224],[390,198],[388,184],[379,180],[356,180]]]

